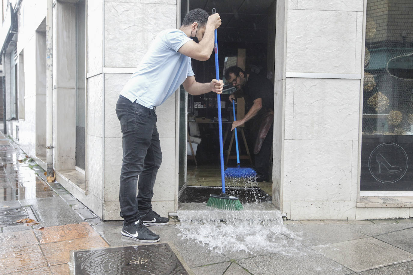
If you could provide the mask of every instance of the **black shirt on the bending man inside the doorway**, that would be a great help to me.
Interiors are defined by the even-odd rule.
[[[250,73],[247,84],[242,90],[248,109],[254,104],[254,100],[261,98],[263,108],[257,117],[268,109],[274,110],[274,85],[269,79],[256,73]]]

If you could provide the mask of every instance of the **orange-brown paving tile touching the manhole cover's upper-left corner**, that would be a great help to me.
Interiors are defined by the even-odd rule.
[[[40,244],[50,266],[68,263],[71,250],[93,249],[108,247],[109,245],[101,237],[86,237],[62,242],[50,242]]]

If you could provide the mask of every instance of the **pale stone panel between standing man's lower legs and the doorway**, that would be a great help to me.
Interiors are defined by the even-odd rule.
[[[175,139],[160,138],[160,142],[162,164],[158,170],[152,200],[175,200]]]

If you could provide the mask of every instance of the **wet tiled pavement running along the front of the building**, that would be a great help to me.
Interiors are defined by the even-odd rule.
[[[43,169],[2,134],[0,168],[0,274],[71,274],[73,251],[116,254],[125,250],[119,247],[152,245],[121,237],[120,221],[100,221],[59,183],[47,183]],[[185,237],[178,221],[150,227],[161,237],[156,245],[167,243],[188,274],[413,274],[413,219],[285,221],[281,228],[270,252],[251,253],[210,249]],[[115,254],[106,259],[113,262]],[[122,271],[131,263],[110,274],[151,274]]]

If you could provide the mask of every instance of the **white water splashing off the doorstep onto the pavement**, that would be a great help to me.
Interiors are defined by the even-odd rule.
[[[194,207],[185,207],[190,209]],[[301,237],[284,227],[279,210],[268,211],[265,205],[243,204],[242,211],[178,211],[180,235],[212,251],[245,251],[249,254],[292,254],[302,251]]]

